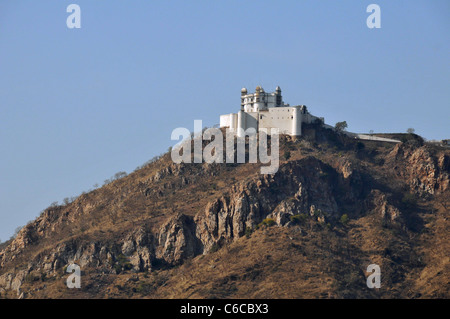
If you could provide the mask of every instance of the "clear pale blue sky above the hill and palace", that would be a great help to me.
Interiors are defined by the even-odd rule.
[[[176,127],[217,124],[244,86],[280,85],[352,132],[450,138],[449,17],[448,0],[1,0],[0,239],[166,151]]]

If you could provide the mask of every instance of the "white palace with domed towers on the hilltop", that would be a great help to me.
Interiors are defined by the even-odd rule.
[[[324,124],[324,118],[311,115],[305,105],[285,104],[279,86],[272,93],[264,92],[261,86],[256,87],[255,93],[248,93],[243,88],[241,110],[220,116],[220,127],[229,127],[239,137],[248,128],[254,128],[257,132],[260,128],[266,128],[268,133],[271,128],[278,128],[280,134],[300,136],[303,123]]]

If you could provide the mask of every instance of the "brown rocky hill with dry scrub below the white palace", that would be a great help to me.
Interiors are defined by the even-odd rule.
[[[49,207],[2,246],[0,297],[449,298],[450,150],[305,132],[273,175],[165,154]]]

